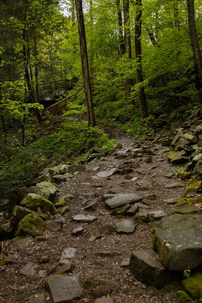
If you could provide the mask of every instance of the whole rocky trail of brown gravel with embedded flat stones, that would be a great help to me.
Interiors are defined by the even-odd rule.
[[[183,204],[177,211],[173,201],[187,181],[175,176],[179,167],[168,163],[168,147],[125,137],[116,142],[120,148],[111,156],[98,157],[94,150],[94,161],[65,174],[55,172],[58,214],[52,211],[44,231],[2,242],[0,302],[180,301],[180,283],[149,286],[149,278],[134,273],[138,265],[129,268],[129,260],[134,250],[152,249],[155,222],[174,208],[183,214]],[[189,207],[195,209],[185,214],[200,212]],[[41,206],[36,211],[40,217]]]

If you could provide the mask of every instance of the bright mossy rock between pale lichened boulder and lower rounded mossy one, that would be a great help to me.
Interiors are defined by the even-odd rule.
[[[38,208],[41,209],[42,213],[51,213],[52,215],[57,214],[53,203],[42,198],[40,195],[35,193],[29,193],[20,203],[21,206],[26,206],[27,208],[37,212]]]

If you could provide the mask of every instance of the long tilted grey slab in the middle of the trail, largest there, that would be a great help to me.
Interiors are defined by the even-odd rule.
[[[135,193],[125,193],[106,200],[105,204],[108,208],[114,209],[118,207],[123,207],[126,204],[135,204],[141,201],[141,199],[142,198]]]

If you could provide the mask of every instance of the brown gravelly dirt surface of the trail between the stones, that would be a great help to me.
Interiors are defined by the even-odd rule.
[[[14,263],[0,269],[0,302],[22,303],[36,293],[43,293],[46,301],[51,302],[50,295],[44,290],[44,280],[59,271],[62,251],[69,247],[76,249],[74,257],[70,260],[75,265],[75,270],[70,275],[78,274],[82,285],[87,274],[116,281],[120,286],[110,294],[115,303],[177,303],[180,301],[176,294],[179,285],[175,284],[161,290],[146,286],[138,281],[138,277],[134,277],[128,266],[122,266],[124,265],[122,264],[123,259],[130,258],[133,250],[151,249],[151,228],[154,220],[143,225],[136,224],[133,233],[114,231],[112,234],[105,234],[102,229],[104,225],[115,226],[117,222],[125,218],[110,214],[110,210],[105,207],[103,195],[106,193],[136,193],[143,198],[149,211],[162,210],[171,215],[174,206],[166,204],[165,200],[178,196],[186,182],[182,182],[182,186],[179,188],[166,187],[179,182],[175,175],[171,178],[166,177],[168,174],[175,173],[179,168],[167,162],[165,159],[167,149],[161,145],[155,145],[155,155],[150,156],[152,163],[145,163],[145,156],[135,159],[140,167],[134,169],[130,175],[138,179],[126,179],[121,174],[98,178],[96,174],[100,171],[119,167],[125,161],[115,159],[116,155],[127,155],[130,158],[131,150],[136,145],[154,145],[148,141],[135,141],[118,132],[113,136],[117,143],[122,144],[121,149],[116,149],[113,155],[105,158],[105,161],[93,161],[86,164],[85,171],[79,172],[71,181],[60,184],[58,198],[67,194],[75,196],[69,202],[69,211],[65,215],[57,215],[55,218],[55,220],[63,222],[61,231],[46,231],[46,241],[44,242],[34,243],[30,237],[23,241],[8,240],[4,242],[4,254],[12,256]],[[136,182],[141,180],[149,181],[150,185],[140,187]],[[155,194],[155,200],[144,199],[148,194]],[[83,209],[95,200],[98,206],[94,212]],[[72,220],[72,216],[78,214],[93,215],[97,220],[93,223],[77,223]],[[132,217],[129,220],[132,220]],[[79,226],[82,226],[85,231],[80,235],[73,235],[72,230]],[[92,236],[99,237],[91,242],[89,238]],[[120,255],[114,257],[96,255],[100,251],[109,250],[116,251]],[[47,256],[45,263],[41,263],[40,257],[42,256]],[[22,274],[21,269],[27,264],[29,264],[27,274]],[[85,290],[83,298],[71,300],[72,303],[92,303],[94,301],[95,297],[89,290]],[[39,300],[34,302],[39,302]]]

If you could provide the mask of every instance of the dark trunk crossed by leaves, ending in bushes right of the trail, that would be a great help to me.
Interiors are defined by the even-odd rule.
[[[142,76],[142,58],[141,58],[141,0],[136,0],[136,15],[135,15],[135,57],[137,60],[136,69],[136,81],[137,83],[143,82]],[[144,119],[148,117],[148,109],[146,104],[146,95],[144,92],[144,87],[142,86],[138,91],[140,112],[142,118],[142,126],[144,126]]]

